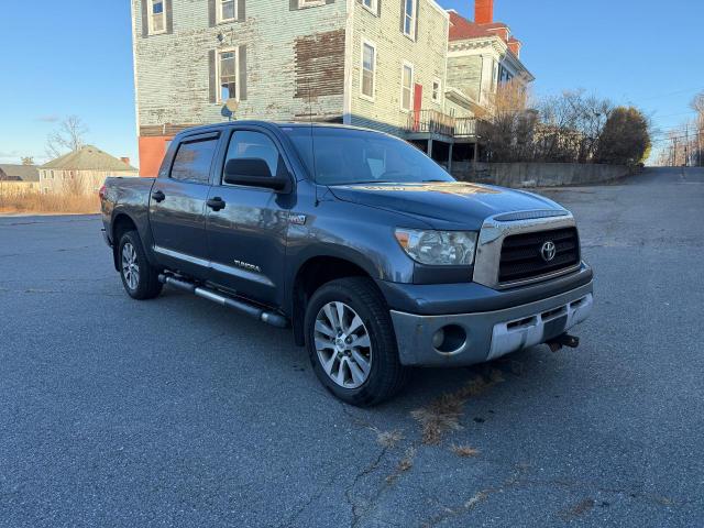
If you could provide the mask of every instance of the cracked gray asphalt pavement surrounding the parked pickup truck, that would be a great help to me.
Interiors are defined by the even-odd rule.
[[[550,195],[597,273],[583,345],[372,410],[285,331],[130,300],[97,218],[0,219],[0,526],[704,525],[704,172]]]

